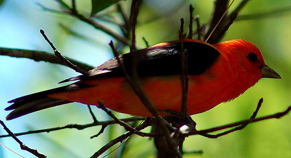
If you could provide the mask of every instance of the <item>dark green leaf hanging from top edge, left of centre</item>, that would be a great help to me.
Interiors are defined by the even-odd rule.
[[[117,3],[118,1],[120,0],[92,0],[91,16],[109,7],[110,5]]]

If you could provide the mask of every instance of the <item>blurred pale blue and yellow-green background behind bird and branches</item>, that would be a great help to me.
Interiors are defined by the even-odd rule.
[[[91,0],[76,1],[78,10],[84,15],[89,15]],[[61,9],[55,0],[0,0],[0,2],[2,2],[0,47],[52,52],[39,33],[39,29],[44,29],[50,40],[67,57],[93,66],[98,66],[113,57],[108,46],[109,41],[113,39],[111,36],[68,15],[46,12],[38,5],[40,3],[48,8]],[[67,2],[69,3],[70,0]],[[184,17],[186,23],[189,23],[190,3],[195,8],[194,14],[200,15],[201,24],[207,23],[213,2],[214,0],[144,0],[138,17],[137,44],[145,47],[142,37],[145,37],[150,45],[177,39],[180,18]],[[239,2],[240,0],[236,0],[233,7]],[[122,1],[121,4],[126,11],[129,11],[130,0]],[[203,114],[193,115],[198,129],[247,119],[262,97],[264,103],[259,116],[283,111],[291,104],[291,1],[250,0],[240,15],[267,13],[281,8],[285,8],[286,11],[273,12],[268,17],[259,16],[256,19],[242,20],[241,18],[240,20],[239,16],[227,31],[223,41],[244,39],[255,43],[266,63],[276,70],[282,79],[262,79],[234,101],[223,103]],[[118,15],[114,16],[118,18]],[[104,21],[99,22],[120,32],[114,25]],[[78,32],[81,36],[69,33],[60,24]],[[128,49],[123,51],[126,53]],[[0,119],[4,120],[9,113],[3,110],[9,105],[7,101],[60,86],[57,85],[59,81],[75,75],[79,74],[65,66],[0,56]],[[93,110],[98,120],[110,119],[97,108]],[[127,117],[127,115],[117,115]],[[13,132],[20,132],[90,122],[92,118],[87,107],[72,103],[5,121],[5,124]],[[279,120],[250,124],[245,129],[218,139],[191,136],[186,139],[185,150],[203,150],[204,153],[187,154],[185,158],[291,158],[290,122],[291,115],[287,115]],[[124,132],[123,128],[111,126],[98,138],[90,139],[90,136],[96,134],[100,128],[63,129],[19,136],[19,139],[28,146],[37,148],[49,158],[87,158],[106,142]],[[0,129],[0,134],[6,133]],[[26,158],[33,157],[30,153],[22,151],[12,138],[1,138],[0,142]],[[110,154],[108,158],[153,158],[155,153],[152,140],[137,136],[129,140],[122,156],[119,153],[121,148]],[[0,146],[0,158],[17,158],[17,156]]]

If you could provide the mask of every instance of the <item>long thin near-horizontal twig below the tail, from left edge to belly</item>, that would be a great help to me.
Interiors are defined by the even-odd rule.
[[[131,117],[131,118],[124,118],[124,119],[120,119],[124,122],[133,122],[133,121],[137,121],[137,120],[143,120],[142,118],[136,118],[136,117]],[[112,124],[116,124],[116,122],[114,120],[110,120],[110,121],[99,121],[99,122],[93,122],[93,123],[89,123],[89,124],[68,124],[65,126],[61,126],[61,127],[55,127],[55,128],[49,128],[49,129],[38,129],[38,130],[29,130],[29,131],[25,131],[25,132],[19,132],[19,133],[15,133],[16,136],[19,135],[27,135],[27,134],[33,134],[33,133],[42,133],[42,132],[51,132],[51,131],[56,131],[56,130],[61,130],[61,129],[78,129],[78,130],[82,130],[82,129],[86,129],[86,128],[90,128],[90,127],[95,127],[95,126],[106,126],[106,125],[112,125]],[[10,135],[0,135],[0,138],[2,137],[9,137]]]

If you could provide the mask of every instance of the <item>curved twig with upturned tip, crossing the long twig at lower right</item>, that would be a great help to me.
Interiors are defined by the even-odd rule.
[[[259,108],[261,107],[262,103],[263,103],[263,99],[261,98],[261,99],[259,100],[259,102],[258,102],[258,106],[257,106],[256,110],[254,111],[253,115],[250,117],[250,120],[255,119],[255,117],[257,116],[257,114],[258,114],[258,112],[259,112]],[[224,136],[224,135],[229,134],[229,133],[231,133],[231,132],[234,132],[234,131],[237,131],[237,130],[244,129],[247,125],[248,125],[248,124],[243,124],[243,125],[241,125],[241,126],[239,126],[239,127],[236,127],[236,128],[234,128],[234,129],[230,129],[230,130],[227,130],[227,131],[224,131],[224,132],[222,132],[222,133],[215,134],[215,135],[212,135],[212,134],[201,134],[201,135],[202,135],[202,136],[205,136],[205,137],[207,137],[207,138],[212,138],[212,139],[214,138],[214,139],[216,139],[216,138],[218,138],[218,137]]]

